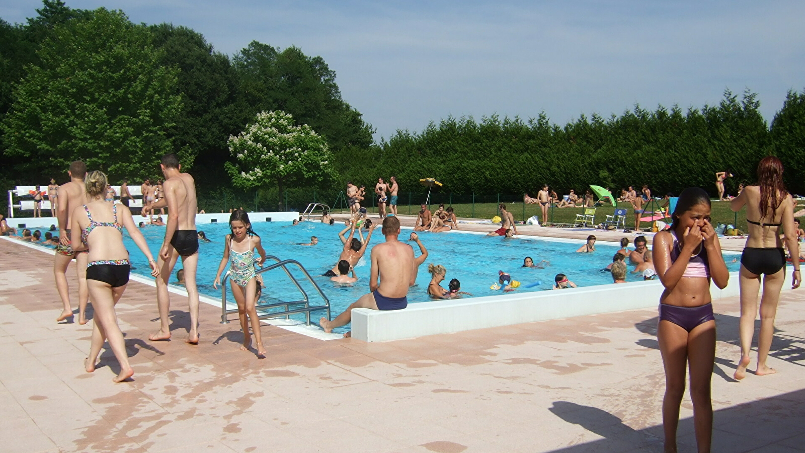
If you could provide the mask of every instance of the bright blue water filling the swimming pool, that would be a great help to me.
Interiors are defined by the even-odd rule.
[[[198,270],[198,287],[200,293],[210,297],[220,299],[221,290],[213,289],[213,280],[217,272],[218,265],[224,252],[224,236],[229,233],[227,223],[203,223],[197,225],[198,229],[204,231],[212,242],[200,243],[200,258]],[[342,244],[338,239],[338,232],[341,231],[343,224],[334,226],[324,225],[320,222],[302,222],[298,226],[290,226],[287,222],[254,222],[254,231],[261,236],[263,247],[267,255],[279,257],[281,260],[298,260],[320,285],[324,293],[330,299],[332,305],[332,315],[341,313],[349,304],[356,301],[358,297],[369,292],[369,252],[357,264],[355,270],[360,280],[352,286],[334,285],[328,277],[320,276],[336,264],[341,253]],[[165,234],[164,226],[147,226],[141,229],[150,247],[151,253],[156,256],[162,239]],[[408,239],[411,230],[403,229],[401,239]],[[319,243],[313,247],[304,247],[298,243],[308,243],[312,235],[319,238]],[[558,242],[547,239],[505,239],[502,237],[486,237],[484,235],[463,234],[463,233],[419,233],[419,239],[423,242],[429,256],[427,261],[420,266],[416,279],[416,285],[411,288],[408,294],[410,302],[420,302],[431,300],[427,294],[427,285],[431,275],[427,272],[427,264],[442,264],[447,268],[447,277],[442,286],[446,289],[448,282],[452,278],[461,281],[461,290],[472,293],[473,296],[490,296],[500,294],[500,291],[489,289],[489,286],[497,281],[497,271],[509,272],[514,280],[521,281],[522,285],[528,285],[535,281],[542,281],[542,285],[528,289],[518,289],[522,291],[542,291],[551,289],[554,276],[562,272],[567,274],[568,279],[579,286],[591,285],[611,285],[612,276],[609,272],[601,272],[607,264],[612,262],[612,256],[618,250],[617,246],[597,243],[597,251],[594,253],[575,253],[580,247],[581,241],[573,243]],[[374,231],[372,245],[384,240],[380,228]],[[125,235],[124,242],[131,253],[132,271],[147,276],[148,265],[145,256],[134,245],[128,235]],[[416,243],[409,242],[414,247],[415,256],[419,256],[419,247]],[[550,262],[546,268],[522,268],[522,260],[525,256],[531,256],[535,263],[540,260]],[[740,264],[732,263],[732,259],[727,260],[730,271],[737,271]],[[266,261],[266,264],[270,264]],[[176,264],[174,275],[171,281],[175,281],[175,271],[181,268],[181,262]],[[634,266],[630,266],[633,270]],[[299,281],[303,281],[300,272],[295,272]],[[291,284],[291,281],[284,276],[282,270],[275,269],[263,274],[266,289],[263,291],[263,299],[269,301],[294,301],[299,300],[299,291]],[[641,281],[642,276],[629,274],[627,281]],[[303,285],[312,299],[312,304],[319,305],[321,301],[317,298],[316,291],[310,285]],[[466,297],[466,296],[465,296]],[[231,293],[229,301],[234,301]],[[323,316],[314,314],[318,319]]]

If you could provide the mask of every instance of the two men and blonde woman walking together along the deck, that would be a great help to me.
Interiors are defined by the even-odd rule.
[[[76,160],[68,169],[70,181],[56,189],[56,198],[59,201],[56,206],[59,235],[53,273],[56,289],[64,305],[56,320],[63,322],[75,316],[70,303],[66,272],[70,261],[76,260],[78,323],[87,322],[85,314],[90,297],[94,311],[92,341],[89,355],[85,359],[85,368],[87,372],[95,370],[101,347],[108,341],[120,364],[120,372],[114,377],[115,382],[127,380],[134,375],[114,310],[126,290],[130,275],[129,252],[126,251],[122,239],[123,228],[126,228],[131,239],[147,257],[151,276],[157,278],[156,299],[160,330],[148,338],[153,341],[171,338],[167,279],[181,257],[191,318],[186,342],[197,344],[199,341],[196,185],[188,173],[180,171],[181,165],[174,154],[163,156],[160,168],[166,177],[164,195],[161,198],[149,198],[141,211],[142,216],[145,216],[156,209],[168,209],[165,239],[157,259],[151,255],[151,250],[135,225],[126,203],[115,203],[114,192],[110,196],[109,181],[103,172],[87,172],[86,164]]]

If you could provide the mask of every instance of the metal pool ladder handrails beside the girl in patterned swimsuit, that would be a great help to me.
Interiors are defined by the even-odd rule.
[[[293,282],[296,286],[296,289],[299,289],[299,293],[302,293],[302,299],[299,301],[282,301],[282,302],[273,302],[273,303],[266,303],[266,304],[258,304],[257,310],[264,312],[264,314],[260,314],[258,318],[280,318],[285,317],[286,319],[290,318],[291,314],[303,313],[305,314],[305,321],[308,326],[310,326],[310,312],[312,311],[319,311],[319,310],[327,310],[327,319],[330,319],[330,300],[327,296],[324,295],[319,285],[316,285],[316,281],[313,280],[313,277],[310,276],[308,271],[299,263],[297,260],[280,260],[276,256],[266,256],[266,260],[274,260],[276,261],[275,264],[271,264],[270,266],[266,266],[265,268],[258,269],[257,273],[262,274],[263,272],[268,272],[270,270],[276,268],[282,268],[285,271],[285,274],[288,276],[289,279]],[[310,297],[308,297],[308,293],[302,288],[302,285],[299,285],[299,281],[296,280],[295,276],[291,274],[291,271],[288,270],[287,266],[293,264],[299,268],[300,271],[304,274],[305,277],[308,278],[308,281],[313,285],[313,288],[318,291],[319,295],[322,299],[324,299],[324,305],[310,305]],[[233,310],[226,310],[226,281],[229,279],[229,272],[226,272],[224,279],[221,281],[221,324],[226,324],[229,322],[227,315],[237,313],[237,308]],[[264,285],[263,288],[270,287],[270,285]],[[291,308],[291,305],[303,305],[299,308]],[[269,312],[267,310],[284,307],[285,310],[283,311],[272,311]]]

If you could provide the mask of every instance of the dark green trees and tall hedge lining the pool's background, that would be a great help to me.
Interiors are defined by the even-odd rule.
[[[392,175],[403,190],[436,177],[463,194],[533,193],[543,183],[563,193],[589,184],[647,184],[663,193],[689,185],[714,191],[714,173],[729,169],[734,191],[753,181],[762,156],[776,154],[786,183],[805,193],[795,177],[805,170],[805,93],[790,92],[771,126],[756,94],[728,90],[717,106],[635,106],[564,127],[544,113],[446,118],[373,143],[372,127],[341,98],[336,74],[299,48],[255,41],[226,56],[196,31],[134,24],[121,11],[44,0],[37,13],[25,24],[0,19],[3,186],[63,181],[76,159],[112,181],[154,177],[159,156],[172,151],[184,168],[192,165],[200,194],[217,197],[234,185],[255,203],[282,202],[285,189],[316,189],[328,202],[345,181],[369,185]],[[259,160],[271,177],[262,177],[252,172],[257,161],[237,156],[248,156],[255,125],[272,122],[305,138],[275,136],[271,146],[279,148]],[[300,154],[305,146],[312,152]]]

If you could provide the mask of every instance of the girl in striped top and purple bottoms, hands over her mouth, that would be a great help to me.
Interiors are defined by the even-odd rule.
[[[679,194],[670,231],[654,236],[654,267],[665,290],[660,296],[657,339],[663,356],[665,451],[676,451],[679,405],[690,369],[693,424],[699,451],[710,451],[712,401],[710,381],[716,353],[716,318],[710,282],[725,288],[729,272],[716,231],[710,223],[710,197],[691,187]]]

